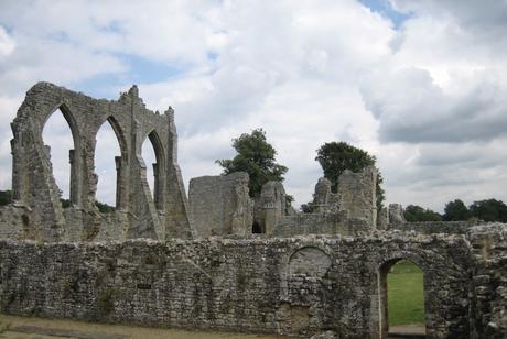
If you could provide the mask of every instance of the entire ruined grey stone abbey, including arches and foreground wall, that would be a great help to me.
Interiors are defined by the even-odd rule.
[[[60,109],[72,130],[71,206],[63,208],[42,131]],[[116,210],[96,205],[96,134],[109,122]],[[249,197],[246,173],[193,178],[177,165],[174,111],[147,109],[133,86],[116,101],[47,83],[11,124],[12,203],[0,208],[0,307],[13,315],[203,330],[386,338],[387,273],[424,275],[428,338],[507,337],[507,225],[411,223],[377,211],[377,170],[321,178],[314,212],[281,183]],[[141,146],[149,138],[155,164]],[[153,165],[154,189],[147,182]]]

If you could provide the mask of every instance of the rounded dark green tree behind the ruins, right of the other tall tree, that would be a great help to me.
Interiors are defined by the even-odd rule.
[[[377,158],[367,152],[349,145],[346,142],[326,142],[317,151],[315,160],[321,164],[324,176],[331,181],[331,192],[336,193],[338,188],[338,178],[345,172],[360,172],[366,166],[375,166]],[[380,210],[384,205],[384,189],[381,184],[382,175],[378,172],[377,177],[377,209]]]

